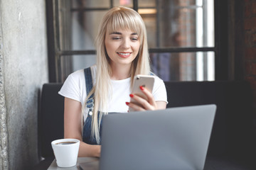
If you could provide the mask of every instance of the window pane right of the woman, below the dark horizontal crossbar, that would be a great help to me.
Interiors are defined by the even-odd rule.
[[[164,81],[213,81],[214,52],[151,53],[152,71]]]

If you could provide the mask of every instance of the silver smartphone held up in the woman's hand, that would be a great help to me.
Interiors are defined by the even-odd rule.
[[[147,100],[147,97],[142,93],[142,90],[139,88],[140,86],[143,86],[148,91],[152,92],[153,86],[154,86],[154,76],[148,76],[148,75],[137,75],[134,77],[134,86],[132,88],[132,94],[136,94],[137,96],[140,96]],[[137,103],[133,98],[130,100],[131,103]],[[132,108],[129,108],[129,112],[134,111]]]

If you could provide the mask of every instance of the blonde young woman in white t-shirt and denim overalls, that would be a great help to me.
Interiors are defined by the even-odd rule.
[[[100,157],[102,116],[109,113],[166,108],[164,81],[156,77],[152,93],[142,88],[148,100],[131,94],[134,76],[149,75],[146,28],[131,8],[108,11],[97,34],[97,63],[66,79],[59,94],[65,96],[64,137],[79,139],[78,157]],[[130,98],[142,106],[129,103]]]

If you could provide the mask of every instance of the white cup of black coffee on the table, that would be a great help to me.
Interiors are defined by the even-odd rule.
[[[80,140],[62,139],[51,142],[55,159],[59,167],[75,166],[78,160]]]

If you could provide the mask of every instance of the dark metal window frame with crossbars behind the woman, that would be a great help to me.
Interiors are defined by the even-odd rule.
[[[156,1],[157,2],[157,1]],[[138,0],[133,0],[134,10],[138,11]],[[113,0],[110,0],[110,8]],[[71,11],[101,11],[110,8],[71,8]],[[214,52],[215,81],[228,79],[228,2],[214,0],[214,47],[154,47],[149,52]],[[60,57],[68,55],[95,55],[95,50],[60,50],[60,18],[58,0],[46,0],[48,35],[48,70],[50,82],[61,82]]]

